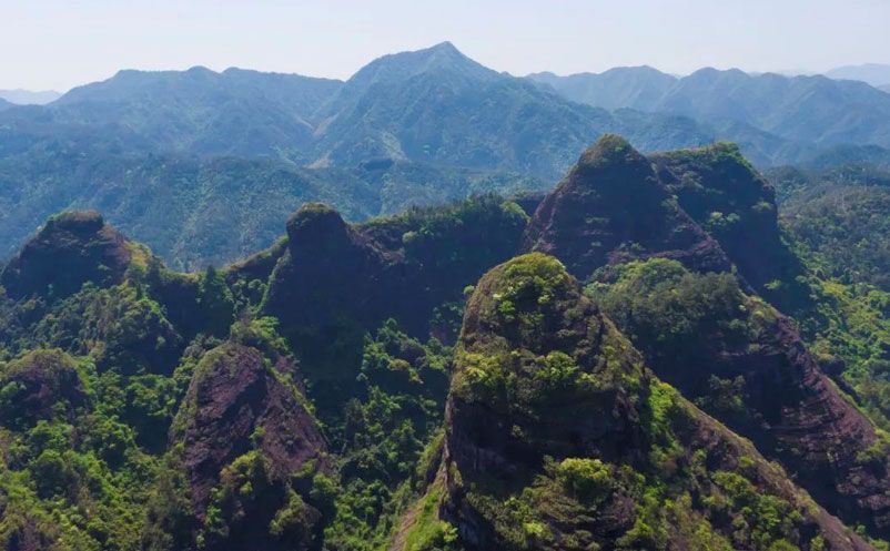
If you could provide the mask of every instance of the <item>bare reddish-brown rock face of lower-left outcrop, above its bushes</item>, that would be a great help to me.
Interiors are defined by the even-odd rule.
[[[195,370],[171,442],[183,442],[199,516],[220,471],[255,446],[277,480],[324,453],[324,439],[296,388],[273,373],[285,377],[293,366],[285,358],[267,361],[255,348],[226,344],[206,353]]]

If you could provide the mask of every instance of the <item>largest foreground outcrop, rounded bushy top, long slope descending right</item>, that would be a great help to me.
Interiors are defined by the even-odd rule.
[[[446,430],[441,518],[469,550],[872,549],[655,379],[545,255],[476,286]]]

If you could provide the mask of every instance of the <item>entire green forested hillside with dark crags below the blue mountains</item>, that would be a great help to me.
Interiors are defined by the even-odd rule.
[[[890,295],[737,146],[351,217],[198,273],[47,220],[0,273],[4,549],[888,549]]]

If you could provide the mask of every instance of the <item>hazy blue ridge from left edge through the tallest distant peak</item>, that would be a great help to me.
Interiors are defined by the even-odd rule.
[[[230,69],[121,71],[51,105],[0,116],[16,152],[41,140],[115,153],[272,157],[355,166],[375,159],[555,178],[605,132],[646,151],[712,135],[672,114],[610,113],[487,69],[451,43],[386,55],[347,82]]]

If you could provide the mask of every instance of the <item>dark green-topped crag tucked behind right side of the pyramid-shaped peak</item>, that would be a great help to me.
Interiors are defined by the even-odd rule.
[[[729,143],[649,157],[658,177],[755,288],[785,312],[805,306],[800,259],[782,243],[776,192]],[[768,284],[782,282],[780,287]]]

